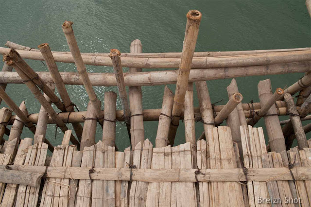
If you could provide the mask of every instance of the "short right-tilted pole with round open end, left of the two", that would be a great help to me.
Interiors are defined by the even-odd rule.
[[[243,96],[241,93],[235,93],[229,99],[225,107],[219,112],[219,114],[214,118],[215,124],[221,124],[231,113],[231,111],[242,102]]]

